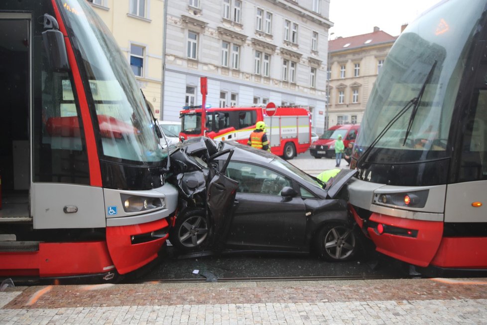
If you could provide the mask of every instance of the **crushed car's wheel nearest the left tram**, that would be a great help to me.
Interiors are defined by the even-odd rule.
[[[169,231],[169,240],[183,252],[202,250],[208,242],[208,230],[205,210],[191,210],[176,218],[176,224]]]

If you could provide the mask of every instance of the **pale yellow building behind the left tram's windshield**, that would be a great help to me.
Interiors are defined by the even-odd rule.
[[[126,55],[153,113],[160,116],[163,0],[88,0]]]

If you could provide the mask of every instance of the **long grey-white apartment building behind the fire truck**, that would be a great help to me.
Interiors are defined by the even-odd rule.
[[[201,104],[301,105],[322,132],[329,0],[167,1],[165,120]]]

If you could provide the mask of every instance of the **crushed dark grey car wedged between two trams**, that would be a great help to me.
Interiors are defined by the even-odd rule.
[[[203,137],[170,157],[181,202],[169,238],[180,251],[315,251],[330,261],[356,254],[341,190],[355,170],[325,185],[263,150]]]

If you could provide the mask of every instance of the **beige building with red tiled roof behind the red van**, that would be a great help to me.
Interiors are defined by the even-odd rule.
[[[328,126],[361,123],[373,84],[397,36],[374,27],[329,41]]]

